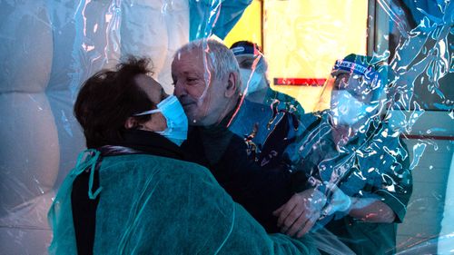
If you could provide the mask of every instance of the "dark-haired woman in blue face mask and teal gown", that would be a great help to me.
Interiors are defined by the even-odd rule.
[[[49,211],[51,254],[313,254],[267,235],[212,174],[183,161],[182,105],[130,58],[82,86],[74,114],[87,150]]]

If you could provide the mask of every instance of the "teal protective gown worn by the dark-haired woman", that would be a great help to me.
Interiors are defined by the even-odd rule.
[[[50,254],[76,254],[71,191],[88,155],[49,211]],[[309,240],[268,235],[202,166],[153,155],[105,157],[94,254],[317,254]]]

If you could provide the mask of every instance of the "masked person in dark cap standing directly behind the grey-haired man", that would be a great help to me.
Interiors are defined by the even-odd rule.
[[[278,103],[280,108],[295,114],[299,119],[302,118],[304,109],[296,99],[271,89],[268,62],[258,44],[238,41],[232,44],[231,50],[240,65],[242,94],[248,100],[265,105]]]

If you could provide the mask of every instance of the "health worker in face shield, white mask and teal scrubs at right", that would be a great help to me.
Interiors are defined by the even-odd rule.
[[[395,253],[412,178],[406,145],[386,121],[387,69],[381,65],[356,54],[334,65],[322,93],[322,100],[331,95],[331,108],[314,113],[317,120],[300,142],[295,175],[308,181],[275,211],[283,232],[318,221],[314,230],[325,226],[357,254]],[[305,210],[308,192],[327,197],[321,211]]]

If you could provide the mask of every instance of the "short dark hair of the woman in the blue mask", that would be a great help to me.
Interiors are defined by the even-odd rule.
[[[134,113],[156,107],[134,81],[138,74],[152,73],[150,63],[148,58],[130,56],[114,71],[102,70],[82,85],[74,103],[74,116],[84,129],[87,148],[121,142],[126,120]],[[151,115],[134,118],[144,123]]]

